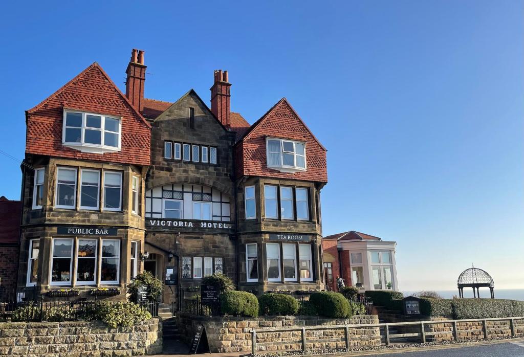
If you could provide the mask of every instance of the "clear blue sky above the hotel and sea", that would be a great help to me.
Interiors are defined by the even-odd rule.
[[[473,262],[524,288],[523,2],[49,4],[3,5],[0,150],[22,159],[24,110],[90,63],[123,88],[133,47],[149,98],[209,101],[226,69],[234,111],[286,96],[328,148],[325,235],[397,241],[403,290],[452,289]]]

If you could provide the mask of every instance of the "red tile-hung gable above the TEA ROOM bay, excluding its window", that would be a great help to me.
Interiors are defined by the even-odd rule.
[[[269,169],[266,162],[266,137],[285,138],[306,143],[306,171],[295,173]],[[286,98],[280,99],[258,119],[236,143],[236,175],[264,176],[328,182],[326,149],[300,119]]]

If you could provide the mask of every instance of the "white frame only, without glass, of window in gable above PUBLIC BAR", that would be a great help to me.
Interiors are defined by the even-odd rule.
[[[66,127],[66,120],[68,113],[79,113],[82,115],[82,126],[81,127]],[[86,127],[87,120],[86,117],[88,115],[94,115],[100,117],[100,128],[90,128]],[[115,119],[118,120],[118,131],[112,131],[112,130],[106,130],[105,129],[105,118]],[[75,129],[81,129],[81,139],[80,142],[67,142],[65,141],[65,129],[66,128],[75,128]],[[100,138],[100,144],[92,144],[92,143],[85,143],[84,142],[84,135],[85,135],[85,129],[88,130],[98,130],[101,132],[101,138]],[[104,144],[104,134],[105,132],[113,133],[118,135],[118,146],[108,146]],[[94,152],[94,153],[103,153],[103,152],[110,152],[110,151],[121,151],[122,147],[122,117],[118,116],[112,116],[112,115],[105,115],[100,113],[89,113],[86,111],[78,111],[78,110],[69,110],[64,109],[63,111],[63,120],[62,120],[62,145],[71,147],[76,150],[80,150],[82,152]]]

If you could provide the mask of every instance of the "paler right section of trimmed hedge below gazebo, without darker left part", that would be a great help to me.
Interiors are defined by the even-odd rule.
[[[524,316],[524,301],[505,299],[450,299],[453,318],[488,319]]]

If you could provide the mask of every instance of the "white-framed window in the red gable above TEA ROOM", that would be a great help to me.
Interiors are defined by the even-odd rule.
[[[305,143],[268,138],[266,148],[268,168],[281,172],[305,171]]]

